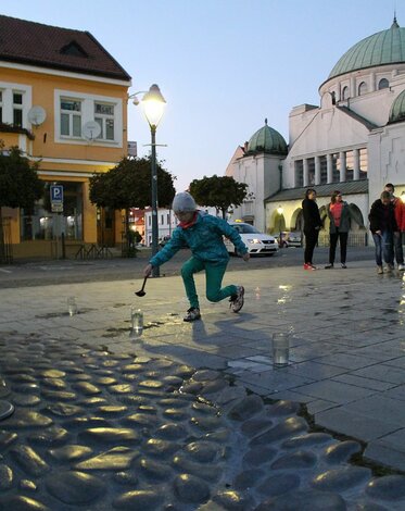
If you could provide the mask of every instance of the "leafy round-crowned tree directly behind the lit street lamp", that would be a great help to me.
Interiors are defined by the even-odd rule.
[[[175,177],[156,162],[157,174],[157,204],[169,208],[176,190]],[[90,201],[100,208],[110,207],[114,210],[125,210],[125,232],[127,253],[130,250],[128,230],[128,210],[130,208],[144,209],[151,205],[152,179],[151,159],[124,158],[114,169],[104,174],[93,174],[90,177]],[[132,253],[132,252],[131,252]]]

